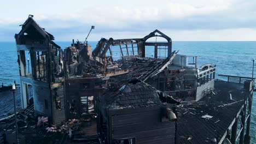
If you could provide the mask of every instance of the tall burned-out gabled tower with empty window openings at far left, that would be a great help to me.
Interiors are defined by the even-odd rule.
[[[63,52],[54,43],[53,35],[32,17],[28,16],[21,31],[15,34],[22,108],[31,105],[38,115],[48,116],[51,122],[59,123],[65,121]],[[31,63],[27,63],[27,59]],[[27,71],[29,67],[31,71]],[[33,87],[33,104],[28,99],[28,85]]]

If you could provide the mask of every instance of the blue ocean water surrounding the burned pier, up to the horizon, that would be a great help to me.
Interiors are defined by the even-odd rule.
[[[71,42],[56,42],[63,48]],[[96,41],[89,42],[94,49]],[[256,59],[256,41],[174,41],[173,50],[179,54],[198,56],[198,65],[212,63],[217,65],[217,75],[252,76],[252,59]],[[112,47],[113,51],[117,47]],[[147,49],[151,57],[153,49]],[[114,56],[120,54],[114,53]],[[15,42],[0,42],[0,82],[10,85],[16,80],[19,83],[19,68]],[[256,64],[255,64],[256,65]],[[255,68],[256,69],[256,68]],[[256,73],[256,71],[255,71]],[[254,74],[255,74],[254,73]],[[216,77],[218,78],[218,76]],[[256,74],[254,75],[254,77]],[[254,93],[255,97],[256,93]],[[251,121],[252,143],[256,143],[256,99],[253,100]]]

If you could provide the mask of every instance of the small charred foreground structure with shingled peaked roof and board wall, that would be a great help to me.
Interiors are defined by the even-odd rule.
[[[100,143],[175,142],[172,105],[161,103],[158,91],[147,83],[130,81],[97,102]]]

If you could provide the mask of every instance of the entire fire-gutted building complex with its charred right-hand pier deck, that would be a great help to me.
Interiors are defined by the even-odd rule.
[[[235,143],[239,136],[240,143],[249,141],[254,79],[216,79],[216,65],[199,67],[197,56],[172,51],[171,38],[157,29],[144,38],[102,38],[95,49],[73,40],[62,50],[33,16],[21,26],[15,39],[22,108],[49,117],[50,124],[81,119],[80,128],[69,129],[71,139]],[[149,41],[158,37],[166,41]]]

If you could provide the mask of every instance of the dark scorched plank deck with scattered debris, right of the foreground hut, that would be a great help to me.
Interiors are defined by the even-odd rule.
[[[243,85],[241,85],[243,86]],[[232,100],[230,100],[230,94]],[[245,93],[241,87],[223,88],[218,84],[213,93],[200,101],[184,103],[177,107],[177,140],[178,143],[211,143],[222,141],[228,129],[237,118],[243,104]],[[202,118],[210,115],[212,118]]]

